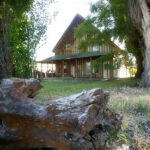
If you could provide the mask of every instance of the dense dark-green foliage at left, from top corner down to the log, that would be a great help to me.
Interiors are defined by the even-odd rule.
[[[32,3],[33,0],[3,0],[0,4],[0,28],[6,41],[3,51],[9,55],[11,75],[15,77],[30,77],[32,72],[32,54],[26,45],[29,27],[26,11]]]

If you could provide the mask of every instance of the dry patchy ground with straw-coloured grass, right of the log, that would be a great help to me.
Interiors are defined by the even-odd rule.
[[[122,130],[110,137],[110,149],[150,150],[150,89],[116,88],[109,106],[123,114]]]

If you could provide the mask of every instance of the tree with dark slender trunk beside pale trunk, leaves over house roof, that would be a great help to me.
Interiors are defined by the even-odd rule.
[[[85,37],[88,37],[86,40],[82,40],[80,48],[82,49],[85,45],[109,43],[112,38],[113,40],[119,39],[120,42],[125,41],[126,50],[136,58],[136,76],[141,76],[143,72],[143,57],[140,49],[141,46],[139,46],[141,45],[141,36],[130,22],[128,1],[99,0],[91,6],[91,12],[91,17],[76,29],[76,37],[80,39],[85,39],[83,38],[85,35]],[[87,24],[93,24],[99,31],[93,30]]]

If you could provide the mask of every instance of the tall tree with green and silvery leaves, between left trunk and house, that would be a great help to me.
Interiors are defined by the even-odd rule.
[[[31,77],[34,69],[34,53],[46,36],[50,17],[47,7],[51,0],[35,0],[28,13],[14,18],[9,24],[9,47],[13,63],[13,76]],[[21,60],[21,61],[20,61]]]

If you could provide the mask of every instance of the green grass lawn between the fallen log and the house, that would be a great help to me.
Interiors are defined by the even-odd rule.
[[[138,81],[139,79],[134,78],[107,81],[45,81],[41,82],[44,88],[39,91],[37,98],[41,101],[46,101],[69,96],[93,88],[111,90],[123,86],[132,86]]]

